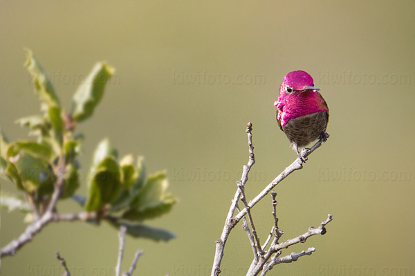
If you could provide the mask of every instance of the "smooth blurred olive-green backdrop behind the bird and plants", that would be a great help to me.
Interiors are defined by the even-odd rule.
[[[84,132],[83,168],[102,137],[120,155],[144,155],[166,169],[180,199],[151,221],[177,238],[127,238],[123,268],[145,250],[137,275],[210,275],[243,164],[252,121],[257,164],[252,198],[295,153],[275,121],[273,101],[291,70],[306,70],[329,103],[329,141],[303,170],[277,186],[282,239],[333,213],[327,234],[285,250],[317,251],[269,275],[415,275],[414,1],[0,1],[0,124],[26,137],[15,119],[39,112],[22,66],[33,50],[68,103],[96,61],[116,68]],[[195,79],[196,78],[196,79]],[[3,181],[1,189],[15,191]],[[85,187],[81,188],[84,193]],[[271,199],[253,209],[264,241]],[[67,199],[59,210],[78,210]],[[3,246],[26,225],[1,210]],[[73,275],[113,275],[116,230],[81,222],[50,224],[3,275],[60,275],[59,250]],[[252,251],[234,229],[221,275],[244,275]]]

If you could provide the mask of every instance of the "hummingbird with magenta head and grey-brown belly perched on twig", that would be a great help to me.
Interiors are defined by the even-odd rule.
[[[298,148],[304,148],[315,139],[326,141],[329,107],[320,88],[314,86],[313,77],[304,71],[289,72],[279,88],[277,121],[279,128],[291,141],[291,147],[300,160],[306,161]]]

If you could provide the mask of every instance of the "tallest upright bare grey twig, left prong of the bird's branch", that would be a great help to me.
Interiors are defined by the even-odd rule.
[[[254,147],[252,146],[252,124],[249,122],[246,127],[246,132],[248,133],[248,146],[249,146],[249,160],[248,164],[243,166],[243,172],[241,177],[241,184],[245,185],[246,181],[248,181],[248,173],[250,168],[253,164],[255,164],[255,156],[254,156]],[[239,197],[241,196],[241,189],[237,189],[237,193],[234,195],[234,199],[232,200],[232,204],[230,204],[228,215],[226,216],[225,226],[223,226],[222,235],[220,239],[216,240],[216,251],[214,254],[214,261],[212,266],[212,276],[217,276],[221,273],[221,262],[223,258],[223,249],[225,247],[226,241],[228,240],[228,236],[232,228],[234,228],[236,222],[232,218],[237,203],[239,201]],[[246,210],[243,209],[243,210]],[[241,212],[239,212],[241,213]]]

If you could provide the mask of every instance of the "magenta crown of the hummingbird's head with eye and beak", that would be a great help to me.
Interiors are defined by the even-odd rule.
[[[291,90],[320,90],[314,86],[313,77],[311,77],[305,71],[293,71],[289,72],[281,83],[281,92],[292,92]]]

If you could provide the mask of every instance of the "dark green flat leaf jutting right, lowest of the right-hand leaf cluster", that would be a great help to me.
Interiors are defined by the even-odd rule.
[[[133,237],[145,237],[147,239],[153,239],[156,242],[160,240],[167,242],[176,237],[176,235],[168,230],[150,227],[143,224],[131,224],[127,221],[109,221],[109,223],[116,228],[120,228],[122,225],[126,226],[127,234]]]

